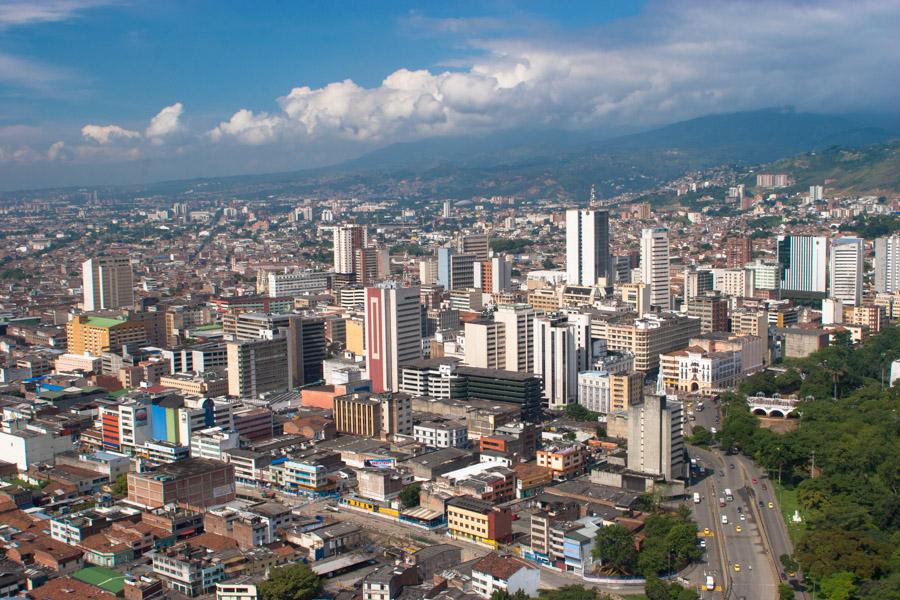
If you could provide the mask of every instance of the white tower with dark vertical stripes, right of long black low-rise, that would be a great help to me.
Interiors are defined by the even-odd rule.
[[[590,335],[590,321],[588,320]],[[565,316],[534,319],[534,373],[543,378],[544,400],[551,410],[577,401],[578,370],[589,348],[579,346],[583,323],[569,323]]]

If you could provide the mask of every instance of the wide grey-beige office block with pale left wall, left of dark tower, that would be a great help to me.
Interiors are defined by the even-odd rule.
[[[287,338],[231,341],[228,354],[228,395],[258,398],[289,388]]]

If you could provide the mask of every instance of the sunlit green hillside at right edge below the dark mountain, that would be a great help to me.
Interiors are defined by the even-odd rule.
[[[771,163],[763,170],[793,176],[794,189],[824,184],[855,193],[900,192],[900,140],[862,148],[833,146]]]

